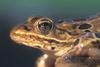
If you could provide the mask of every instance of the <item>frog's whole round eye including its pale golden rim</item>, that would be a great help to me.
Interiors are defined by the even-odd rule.
[[[49,18],[41,18],[37,24],[38,31],[42,34],[48,34],[53,28],[53,22]]]

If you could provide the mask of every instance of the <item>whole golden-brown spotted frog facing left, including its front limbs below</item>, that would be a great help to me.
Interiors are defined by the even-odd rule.
[[[16,43],[44,52],[37,67],[99,67],[100,16],[55,23],[47,17],[30,17],[15,26],[10,37]]]

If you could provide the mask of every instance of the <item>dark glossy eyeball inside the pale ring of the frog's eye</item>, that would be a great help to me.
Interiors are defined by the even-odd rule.
[[[44,22],[42,24],[39,24],[38,27],[39,27],[39,30],[41,31],[41,33],[48,34],[50,29],[52,28],[52,24]]]

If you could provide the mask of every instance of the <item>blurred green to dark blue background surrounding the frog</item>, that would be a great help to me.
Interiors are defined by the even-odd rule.
[[[34,67],[42,53],[14,43],[9,32],[29,16],[85,18],[100,13],[100,0],[0,0],[0,67]]]

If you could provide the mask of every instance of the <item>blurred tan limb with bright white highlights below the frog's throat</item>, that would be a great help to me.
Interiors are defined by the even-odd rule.
[[[36,67],[55,67],[56,56],[51,54],[43,54],[36,61]]]

